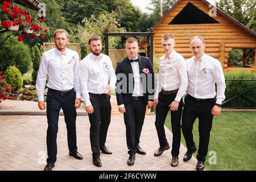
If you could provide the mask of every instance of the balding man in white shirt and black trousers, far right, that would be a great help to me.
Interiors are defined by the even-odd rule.
[[[204,162],[208,152],[210,130],[213,116],[220,115],[221,104],[225,100],[225,78],[220,61],[204,53],[204,38],[194,36],[190,40],[193,57],[186,62],[188,73],[188,95],[182,116],[181,129],[187,144],[184,162],[192,158],[196,152],[193,140],[193,123],[199,118],[199,150],[197,152],[197,171],[204,170]],[[217,92],[216,85],[217,84]]]

